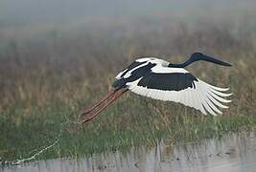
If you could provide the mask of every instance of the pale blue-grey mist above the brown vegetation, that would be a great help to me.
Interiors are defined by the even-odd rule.
[[[125,23],[127,29],[143,21],[161,29],[159,20],[163,19],[167,23],[221,20],[252,29],[256,23],[255,6],[253,0],[1,0],[0,29],[6,34],[1,36],[18,36],[78,27],[99,29],[110,22],[119,26]]]

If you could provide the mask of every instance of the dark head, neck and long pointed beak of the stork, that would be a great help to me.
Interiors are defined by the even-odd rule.
[[[169,67],[184,68],[184,67],[190,65],[191,63],[199,61],[199,60],[212,62],[212,63],[218,64],[218,65],[221,65],[221,66],[232,66],[231,64],[229,64],[227,62],[221,61],[220,59],[208,56],[206,54],[194,53],[184,63],[181,63],[181,64],[169,64]]]

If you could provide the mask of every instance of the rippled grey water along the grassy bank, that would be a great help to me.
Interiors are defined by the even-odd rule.
[[[0,168],[1,170],[1,168]],[[240,133],[221,140],[133,147],[127,153],[93,155],[77,160],[35,161],[2,168],[4,172],[256,172],[256,135]]]

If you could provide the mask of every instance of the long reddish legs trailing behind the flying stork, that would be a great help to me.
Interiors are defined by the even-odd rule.
[[[110,91],[103,99],[96,102],[92,107],[87,108],[81,113],[82,123],[87,122],[101,114],[115,100],[123,96],[128,90],[121,91],[120,89]]]

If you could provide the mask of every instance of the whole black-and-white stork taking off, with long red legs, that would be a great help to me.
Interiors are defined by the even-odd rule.
[[[232,94],[222,93],[229,88],[212,86],[184,69],[198,60],[231,66],[220,59],[201,53],[192,54],[182,64],[172,64],[155,57],[136,59],[116,76],[112,84],[113,89],[107,96],[82,113],[82,121],[86,122],[95,118],[128,90],[144,97],[179,102],[198,109],[204,115],[207,112],[214,116],[217,113],[221,114],[218,107],[228,108],[222,103],[231,101],[223,97],[229,97]]]

